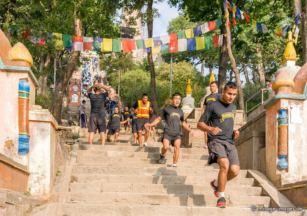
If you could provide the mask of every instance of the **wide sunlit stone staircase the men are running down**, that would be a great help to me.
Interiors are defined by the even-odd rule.
[[[219,170],[207,166],[207,149],[181,148],[178,167],[171,167],[173,148],[159,164],[162,143],[153,137],[148,147],[139,147],[131,143],[131,131],[122,130],[118,143],[105,146],[98,134],[89,145],[87,129],[80,129],[80,136],[82,144],[74,145],[71,171],[64,176],[68,187],[52,215],[259,215],[251,206],[270,206],[270,197],[241,170],[227,183],[227,208],[215,207],[210,182]]]

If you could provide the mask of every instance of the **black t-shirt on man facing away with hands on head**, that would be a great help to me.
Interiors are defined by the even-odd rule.
[[[91,101],[91,117],[104,117],[104,100],[108,97],[108,92],[93,94],[88,93],[88,98]]]

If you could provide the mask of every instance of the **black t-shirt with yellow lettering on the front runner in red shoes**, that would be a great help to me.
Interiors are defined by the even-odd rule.
[[[233,143],[233,124],[235,120],[235,104],[225,104],[221,100],[213,101],[208,104],[199,121],[204,122],[210,127],[218,127],[222,132],[212,135],[207,133],[208,142],[212,139],[222,139]]]

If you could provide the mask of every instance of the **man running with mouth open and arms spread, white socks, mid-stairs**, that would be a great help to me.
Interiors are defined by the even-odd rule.
[[[163,132],[163,147],[161,149],[161,155],[159,159],[159,163],[164,163],[165,154],[167,149],[169,148],[169,144],[174,147],[174,162],[172,167],[177,167],[176,163],[179,157],[179,147],[181,144],[181,136],[182,136],[182,126],[188,130],[191,136],[194,133],[188,127],[185,122],[185,118],[183,116],[182,109],[178,108],[181,102],[181,94],[174,93],[172,96],[172,105],[166,106],[160,112],[160,116],[157,117],[152,123],[146,123],[145,127],[150,128],[157,125],[162,119],[165,119],[165,127]],[[181,124],[180,124],[181,122]]]

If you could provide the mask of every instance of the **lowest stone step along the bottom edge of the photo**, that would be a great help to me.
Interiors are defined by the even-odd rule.
[[[165,215],[168,216],[212,216],[212,215],[235,215],[235,216],[284,216],[284,215],[301,215],[301,212],[269,212],[269,211],[253,211],[251,208],[238,207],[207,207],[207,206],[164,206],[164,205],[120,205],[120,204],[74,204],[60,203],[58,205],[59,215]]]

